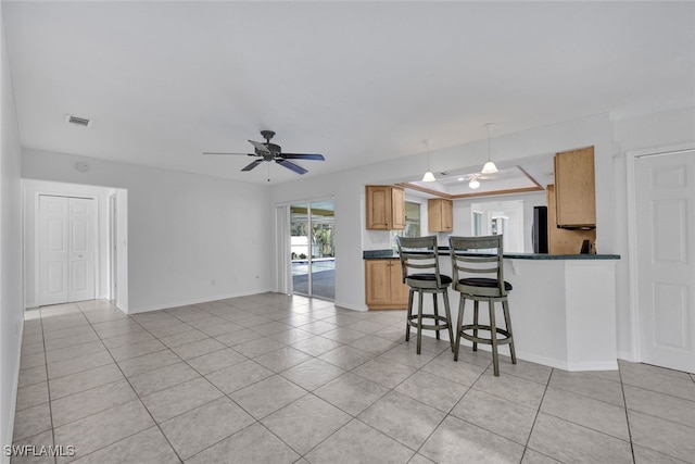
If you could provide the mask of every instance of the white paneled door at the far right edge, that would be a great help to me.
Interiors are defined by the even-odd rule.
[[[695,151],[635,166],[641,361],[695,372]]]

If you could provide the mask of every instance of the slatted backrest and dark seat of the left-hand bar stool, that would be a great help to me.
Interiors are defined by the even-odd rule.
[[[403,284],[415,284],[416,287],[421,287],[429,281],[437,285],[437,288],[442,287],[437,237],[396,237],[395,239],[401,256]],[[424,279],[422,277],[427,275],[433,278]]]

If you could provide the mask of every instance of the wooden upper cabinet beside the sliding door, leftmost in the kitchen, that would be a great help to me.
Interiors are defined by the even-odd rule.
[[[367,229],[405,228],[405,191],[394,186],[367,186]]]

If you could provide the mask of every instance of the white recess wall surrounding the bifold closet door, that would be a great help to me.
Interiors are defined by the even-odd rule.
[[[24,290],[27,308],[38,306],[38,196],[81,196],[97,201],[97,298],[110,297],[109,272],[109,196],[115,189],[46,180],[24,181]]]

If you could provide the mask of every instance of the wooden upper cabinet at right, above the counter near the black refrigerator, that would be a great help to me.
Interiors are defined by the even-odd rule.
[[[596,226],[593,147],[555,155],[555,209],[558,227]]]

